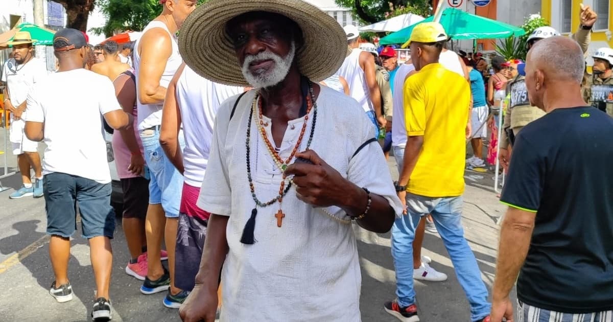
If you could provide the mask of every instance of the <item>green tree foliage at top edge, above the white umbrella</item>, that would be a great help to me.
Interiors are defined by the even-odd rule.
[[[403,13],[422,17],[432,15],[429,0],[335,0],[340,7],[351,8],[354,17],[368,25]]]

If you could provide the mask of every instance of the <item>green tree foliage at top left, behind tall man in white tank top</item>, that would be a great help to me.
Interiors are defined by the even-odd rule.
[[[198,4],[207,1],[198,0]],[[89,31],[107,37],[123,31],[142,31],[149,21],[162,12],[159,0],[98,0],[97,4],[107,18],[107,23]]]

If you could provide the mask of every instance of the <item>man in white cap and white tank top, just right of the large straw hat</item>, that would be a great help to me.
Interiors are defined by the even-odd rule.
[[[357,27],[347,25],[344,29],[347,36],[348,56],[338,70],[338,75],[347,80],[349,96],[362,106],[368,118],[375,125],[375,137],[378,137],[379,128],[386,125],[386,120],[381,112],[381,93],[377,86],[375,61],[370,53],[359,48],[360,31]]]

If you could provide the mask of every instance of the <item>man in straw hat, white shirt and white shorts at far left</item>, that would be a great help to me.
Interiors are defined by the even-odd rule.
[[[38,142],[28,140],[23,132],[28,91],[34,83],[47,77],[45,63],[34,57],[32,44],[35,41],[28,31],[17,31],[13,40],[7,43],[13,47],[13,58],[4,64],[2,71],[2,82],[6,83],[4,109],[12,113],[9,140],[12,144],[13,155],[17,155],[17,164],[21,172],[21,180],[23,180],[21,188],[10,194],[10,199],[43,196],[42,165],[38,153]],[[30,177],[31,168],[34,168],[36,176],[33,184]]]

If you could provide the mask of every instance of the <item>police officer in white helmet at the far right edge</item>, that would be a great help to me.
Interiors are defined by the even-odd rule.
[[[584,99],[613,117],[613,49],[600,48],[592,58],[593,75],[585,86]]]

